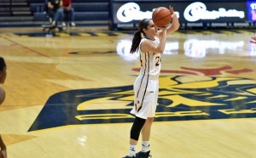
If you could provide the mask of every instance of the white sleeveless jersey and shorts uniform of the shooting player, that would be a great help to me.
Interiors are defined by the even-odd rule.
[[[142,39],[138,48],[141,71],[134,82],[135,99],[131,114],[147,119],[147,117],[154,117],[156,110],[159,93],[160,54],[153,52],[143,53],[140,47],[144,40],[146,38]],[[159,42],[159,39],[155,38],[154,43],[158,44]]]

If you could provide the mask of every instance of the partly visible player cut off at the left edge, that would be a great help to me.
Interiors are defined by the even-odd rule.
[[[2,57],[0,57],[0,83],[3,84],[6,78],[6,64]],[[0,87],[0,105],[5,99],[5,92]],[[3,143],[3,139],[0,135],[0,158],[7,158],[6,145]]]

